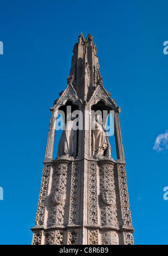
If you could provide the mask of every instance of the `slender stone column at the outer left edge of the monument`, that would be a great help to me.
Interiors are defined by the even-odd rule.
[[[50,111],[52,112],[52,114],[50,117],[49,132],[48,132],[48,138],[47,138],[47,142],[46,142],[44,161],[46,161],[48,159],[52,159],[52,157],[53,157],[56,117],[54,117],[54,108],[50,108]]]

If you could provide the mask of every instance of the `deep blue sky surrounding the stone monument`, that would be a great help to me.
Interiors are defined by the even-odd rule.
[[[168,129],[167,10],[165,0],[1,0],[1,244],[31,244],[49,109],[81,32],[93,36],[103,85],[122,110],[134,244],[168,244],[166,137],[153,149]]]

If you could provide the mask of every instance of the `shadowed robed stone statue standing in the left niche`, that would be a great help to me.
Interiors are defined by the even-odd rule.
[[[63,132],[59,140],[57,156],[77,156],[77,131],[73,129],[73,121],[71,113],[67,114],[67,120],[63,127]]]

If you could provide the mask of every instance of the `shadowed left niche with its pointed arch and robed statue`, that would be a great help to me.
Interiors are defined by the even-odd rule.
[[[79,110],[79,107],[73,104],[72,101],[67,101],[58,110],[63,111],[60,111],[60,114],[62,115],[64,126],[59,140],[57,157],[73,156],[75,158],[78,155],[78,129],[73,129],[73,124],[75,122],[76,126],[78,126],[78,122],[76,122],[78,115],[74,116],[73,111]]]

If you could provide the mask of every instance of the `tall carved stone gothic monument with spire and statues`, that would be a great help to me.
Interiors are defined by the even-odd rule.
[[[50,108],[32,244],[133,244],[120,108],[102,85],[96,52],[92,36],[85,40],[81,33],[73,49],[68,86]],[[114,113],[115,148],[101,125],[104,110]],[[57,157],[52,159],[59,111],[66,118]],[[80,119],[75,111],[81,113]],[[92,111],[98,113],[94,119]],[[74,122],[78,129],[73,129]],[[116,161],[111,158],[115,150]]]

